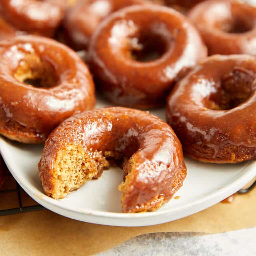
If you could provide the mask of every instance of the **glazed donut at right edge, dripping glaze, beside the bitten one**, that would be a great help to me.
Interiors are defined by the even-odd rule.
[[[184,153],[202,162],[256,159],[256,58],[214,55],[194,66],[167,100]]]

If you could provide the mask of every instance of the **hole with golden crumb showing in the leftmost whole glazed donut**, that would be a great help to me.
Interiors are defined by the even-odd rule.
[[[58,81],[53,65],[35,54],[27,54],[20,61],[14,77],[21,83],[42,88],[54,87]]]

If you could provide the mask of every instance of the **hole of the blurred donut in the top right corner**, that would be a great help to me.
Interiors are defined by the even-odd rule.
[[[241,34],[246,33],[253,29],[253,24],[250,20],[243,18],[233,18],[231,22],[224,22],[222,24],[222,30],[226,33]]]

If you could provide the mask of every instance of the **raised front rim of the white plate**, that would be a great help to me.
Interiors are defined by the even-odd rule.
[[[19,178],[20,176],[16,175],[15,166],[13,166],[12,163],[7,159],[8,154],[4,153],[4,151],[6,151],[5,149],[8,147],[8,142],[11,143],[11,141],[9,141],[6,138],[0,137],[0,142],[1,142],[0,143],[0,153],[1,153],[1,155],[2,155],[6,165],[8,166],[11,174],[14,176],[15,180],[20,184],[20,186],[25,190],[25,192],[29,196],[31,196],[37,203],[43,205],[47,209],[50,209],[50,210],[52,210],[52,211],[54,211],[58,214],[64,215],[64,216],[69,217],[69,218],[74,218],[74,216],[71,216],[72,213],[73,213],[73,214],[78,214],[78,215],[82,214],[83,216],[94,216],[94,217],[107,218],[107,219],[115,218],[115,219],[119,219],[119,220],[122,220],[122,219],[133,219],[133,220],[139,220],[140,219],[140,220],[143,220],[143,219],[146,219],[146,218],[154,218],[154,217],[175,215],[175,214],[180,213],[182,211],[186,212],[186,211],[189,211],[190,209],[192,209],[194,206],[202,205],[202,204],[208,205],[207,203],[209,203],[210,201],[212,201],[216,198],[222,198],[220,200],[218,199],[217,201],[214,200],[215,202],[210,203],[210,205],[208,205],[206,207],[204,207],[204,206],[200,207],[198,209],[198,211],[196,211],[196,212],[199,212],[199,211],[201,211],[203,209],[206,209],[206,208],[216,204],[217,202],[220,202],[221,200],[225,199],[227,194],[229,196],[229,195],[235,193],[236,191],[241,189],[244,185],[246,185],[251,179],[253,179],[254,176],[256,176],[256,161],[254,161],[254,160],[248,161],[242,167],[240,172],[242,172],[244,170],[244,168],[246,168],[246,167],[248,168],[248,170],[245,173],[239,175],[238,178],[236,178],[232,182],[228,183],[224,187],[216,189],[216,190],[210,192],[207,195],[200,196],[198,199],[193,200],[188,204],[177,206],[177,207],[174,207],[174,208],[161,210],[161,211],[144,212],[144,213],[134,214],[134,213],[105,212],[105,211],[88,210],[88,209],[82,209],[82,208],[74,209],[74,208],[59,205],[56,202],[60,202],[60,201],[54,200],[54,199],[46,196],[41,191],[40,191],[40,193],[43,196],[41,196],[41,194],[40,194],[40,197],[39,197],[38,195],[36,195],[36,193],[38,193],[38,191],[37,192],[33,191],[33,190],[35,190],[34,187],[28,188],[27,185],[26,185],[26,183],[28,183],[28,182],[24,182],[25,183],[24,184],[22,182],[22,180]],[[8,152],[8,150],[6,152]],[[232,177],[232,178],[234,178],[234,177]],[[50,205],[50,207],[49,207],[49,205]],[[57,210],[55,210],[53,208],[57,208]],[[69,215],[63,214],[63,212],[61,212],[63,210],[68,211],[70,214]],[[195,212],[193,211],[193,213],[195,213]],[[185,214],[185,216],[189,216],[193,213]],[[185,217],[185,216],[183,216],[183,217]],[[75,218],[75,219],[82,220],[81,218]],[[179,219],[179,218],[175,218],[175,219]],[[175,220],[175,219],[173,219],[173,220]],[[82,220],[82,221],[84,221],[84,220]],[[87,222],[89,222],[89,221],[87,221]],[[166,222],[166,221],[163,221],[163,222]],[[157,223],[160,224],[160,223],[163,223],[163,222],[158,221]],[[104,221],[97,221],[97,222],[92,222],[92,223],[107,225]],[[152,224],[152,225],[154,225],[154,224]],[[121,225],[118,225],[118,226],[121,226]],[[122,226],[123,226],[123,224],[122,224]],[[128,226],[134,226],[134,225],[128,225]],[[135,226],[138,226],[138,225],[135,225]],[[142,223],[142,226],[143,226],[143,223]]]

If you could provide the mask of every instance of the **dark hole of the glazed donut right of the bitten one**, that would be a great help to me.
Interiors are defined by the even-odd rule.
[[[228,110],[248,100],[252,95],[254,77],[246,71],[233,70],[223,77],[215,93],[210,94],[205,105],[212,110]]]

